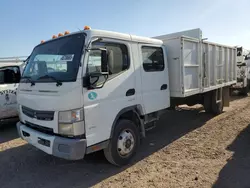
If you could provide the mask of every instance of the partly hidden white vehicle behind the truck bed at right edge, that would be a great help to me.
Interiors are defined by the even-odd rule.
[[[250,87],[249,67],[247,58],[249,51],[242,46],[237,47],[237,83],[232,85],[231,91],[238,90],[241,94],[247,95]]]

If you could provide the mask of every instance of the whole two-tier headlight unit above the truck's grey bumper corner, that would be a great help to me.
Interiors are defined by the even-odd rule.
[[[84,134],[83,109],[59,112],[58,133],[62,135]]]

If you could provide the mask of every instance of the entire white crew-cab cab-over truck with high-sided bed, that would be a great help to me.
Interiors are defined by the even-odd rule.
[[[17,129],[48,154],[79,160],[104,150],[121,166],[165,109],[199,103],[219,114],[234,83],[236,48],[203,41],[199,29],[146,38],[86,27],[34,48]]]

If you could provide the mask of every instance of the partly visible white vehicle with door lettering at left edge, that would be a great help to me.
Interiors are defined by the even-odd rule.
[[[18,116],[16,90],[25,58],[0,58],[0,122]]]

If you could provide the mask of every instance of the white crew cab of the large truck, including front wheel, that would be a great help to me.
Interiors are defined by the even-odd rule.
[[[161,40],[88,28],[42,42],[18,87],[20,136],[57,157],[104,149],[127,164],[144,123],[170,106],[166,57]]]

